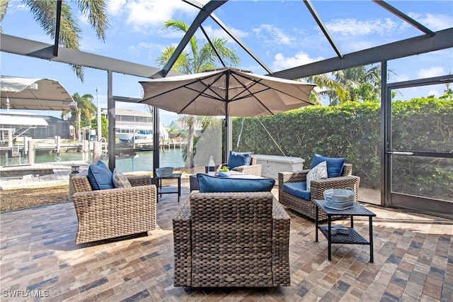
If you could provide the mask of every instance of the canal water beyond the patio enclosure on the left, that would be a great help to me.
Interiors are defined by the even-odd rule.
[[[179,148],[173,150],[160,150],[160,167],[184,167],[183,153]],[[80,152],[61,152],[59,156],[55,154],[36,155],[35,163],[43,162],[71,162],[82,160],[82,154]],[[91,162],[91,158],[90,161]],[[104,161],[107,163],[107,160]],[[128,158],[117,158],[115,160],[116,167],[121,172],[135,172],[135,171],[152,171],[153,169],[153,152],[142,151],[137,152],[136,157]],[[16,164],[27,164],[27,158],[25,157],[13,157],[8,159],[8,165]],[[0,157],[0,165],[6,166],[5,157]]]

